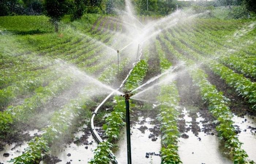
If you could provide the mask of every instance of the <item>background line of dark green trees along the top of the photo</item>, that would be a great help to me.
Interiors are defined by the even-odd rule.
[[[208,11],[217,6],[230,8],[231,18],[246,17],[256,11],[255,0],[131,0],[139,15],[168,15],[177,8],[191,7],[195,12]],[[231,8],[232,6],[232,8]],[[0,16],[46,15],[58,31],[58,22],[66,14],[71,21],[84,13],[115,14],[125,8],[125,0],[0,0]]]

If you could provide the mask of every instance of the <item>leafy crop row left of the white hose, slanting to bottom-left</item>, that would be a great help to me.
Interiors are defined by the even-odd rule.
[[[14,164],[25,164],[27,162],[38,163],[42,156],[45,153],[48,153],[49,145],[66,135],[70,129],[70,126],[75,126],[77,119],[81,119],[81,117],[88,118],[90,116],[90,105],[92,104],[92,106],[95,106],[95,102],[90,99],[90,97],[93,97],[93,94],[89,94],[90,88],[91,86],[86,87],[84,91],[79,94],[78,98],[72,99],[69,104],[62,107],[59,111],[56,111],[50,120],[50,124],[43,129],[45,133],[42,134],[42,137],[35,137],[33,140],[31,140],[25,153],[14,158],[12,162],[14,162]],[[94,88],[98,91],[93,91],[91,93],[102,92],[100,88]],[[108,145],[111,146],[111,144]]]

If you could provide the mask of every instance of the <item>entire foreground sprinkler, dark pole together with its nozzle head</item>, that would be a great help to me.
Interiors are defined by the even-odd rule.
[[[131,91],[124,91],[124,95],[121,95],[125,98],[125,113],[126,113],[126,138],[127,138],[127,164],[132,164],[132,155],[131,155],[131,132],[130,132],[130,108],[129,108],[129,99],[133,94]]]

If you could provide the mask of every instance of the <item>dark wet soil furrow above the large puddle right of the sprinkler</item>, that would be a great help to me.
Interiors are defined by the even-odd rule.
[[[209,113],[207,104],[204,104],[202,101],[199,88],[193,85],[192,78],[189,76],[189,73],[186,70],[178,71],[177,88],[180,95],[180,106],[181,108],[189,109],[189,117],[192,118],[191,124],[189,127],[185,127],[185,120],[182,119],[184,114],[180,114],[180,119],[178,121],[178,127],[180,133],[186,133],[189,130],[198,136],[199,132],[203,131],[207,134],[216,134],[216,124],[213,123],[215,120],[214,117]],[[204,118],[202,121],[203,128],[199,127],[200,122],[196,121],[198,114],[200,117]],[[187,135],[181,135],[181,137],[188,137]]]

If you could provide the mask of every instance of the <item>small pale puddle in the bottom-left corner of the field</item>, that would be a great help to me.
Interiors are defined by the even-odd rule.
[[[0,152],[0,162],[8,164],[7,161],[10,161],[11,159],[22,155],[24,149],[27,148],[27,142],[23,142],[21,145],[15,147],[16,144],[17,143],[5,145],[4,150]],[[10,155],[8,157],[4,157],[4,153],[9,153]]]

